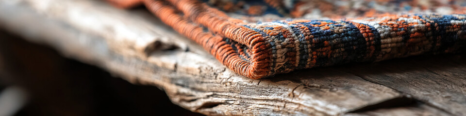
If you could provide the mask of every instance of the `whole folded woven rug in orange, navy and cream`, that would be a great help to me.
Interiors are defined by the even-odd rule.
[[[202,45],[234,72],[253,79],[347,62],[453,53],[466,46],[464,8],[452,0],[427,5],[413,3],[418,0],[378,0],[373,4],[382,5],[374,8],[345,6],[348,0],[108,1],[120,8],[145,4],[166,25]],[[387,9],[392,13],[379,14]],[[409,15],[424,11],[443,14]],[[303,19],[316,13],[333,19]]]

